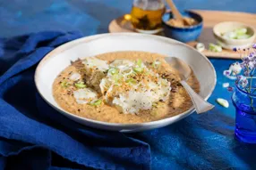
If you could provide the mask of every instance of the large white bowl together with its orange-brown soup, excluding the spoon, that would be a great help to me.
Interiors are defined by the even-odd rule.
[[[194,110],[175,70],[163,61],[168,56],[192,68],[188,83],[207,100],[216,73],[205,56],[173,39],[136,33],[61,45],[40,61],[35,83],[53,109],[82,125],[120,132],[159,128]]]

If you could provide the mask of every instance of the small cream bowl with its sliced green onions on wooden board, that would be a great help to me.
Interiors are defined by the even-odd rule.
[[[213,28],[218,45],[226,49],[247,48],[255,40],[255,29],[235,21],[220,22]]]

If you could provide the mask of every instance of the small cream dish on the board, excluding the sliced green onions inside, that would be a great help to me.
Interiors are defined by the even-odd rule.
[[[228,39],[224,36],[221,36],[222,33],[233,31],[235,28],[247,28],[248,33],[251,35],[246,39]],[[217,40],[218,45],[221,45],[223,48],[233,50],[234,48],[247,48],[251,46],[256,37],[255,29],[243,24],[242,22],[227,21],[220,22],[213,28],[213,34]]]

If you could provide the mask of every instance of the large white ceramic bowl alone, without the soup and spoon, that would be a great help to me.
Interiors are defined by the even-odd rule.
[[[114,33],[96,36],[87,36],[67,44],[61,45],[48,53],[40,61],[35,74],[35,82],[38,92],[49,105],[66,117],[73,119],[82,125],[91,127],[121,131],[138,132],[170,125],[192,114],[193,108],[175,117],[167,117],[158,121],[141,124],[115,124],[78,117],[60,108],[52,93],[52,85],[55,77],[66,67],[70,61],[78,58],[94,56],[99,53],[116,51],[143,51],[175,56],[187,62],[193,69],[201,84],[201,96],[208,99],[216,85],[216,72],[209,60],[188,45],[162,36],[142,35],[138,33]]]

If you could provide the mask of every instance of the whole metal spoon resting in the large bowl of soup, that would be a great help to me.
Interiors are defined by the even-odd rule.
[[[196,109],[197,113],[203,113],[209,109],[213,109],[214,105],[205,101],[198,93],[195,93],[190,85],[186,83],[186,80],[190,77],[192,70],[191,68],[182,60],[175,57],[166,57],[166,62],[170,66],[179,72],[179,77],[181,78],[180,83],[183,85],[186,92],[190,95],[192,103]]]

